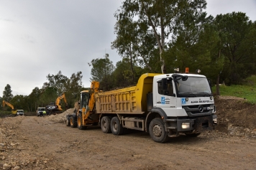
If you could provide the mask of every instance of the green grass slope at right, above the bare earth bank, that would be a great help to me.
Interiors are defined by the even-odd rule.
[[[221,95],[236,96],[246,98],[248,103],[256,104],[256,76],[252,75],[244,80],[243,85],[220,85]],[[216,87],[212,88],[213,93],[216,93]]]

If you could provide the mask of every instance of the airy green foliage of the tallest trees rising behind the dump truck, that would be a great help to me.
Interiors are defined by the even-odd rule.
[[[131,61],[132,57],[137,58],[136,62],[140,62],[140,65],[147,67],[150,72],[155,72],[150,60],[155,58],[156,54],[153,52],[158,49],[158,61],[153,63],[160,65],[160,71],[166,73],[168,68],[165,65],[168,64],[165,60],[168,58],[164,58],[163,53],[168,49],[166,44],[168,41],[170,43],[170,35],[173,34],[175,39],[180,32],[178,30],[193,26],[196,18],[204,22],[206,13],[202,12],[203,9],[206,9],[204,0],[126,0],[115,14],[117,36],[112,47],[122,55],[124,51],[128,51]],[[197,36],[196,32],[190,32],[188,36],[192,37],[192,33]]]

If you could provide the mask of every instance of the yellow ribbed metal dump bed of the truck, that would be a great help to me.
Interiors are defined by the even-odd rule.
[[[96,113],[143,114],[147,112],[147,93],[152,93],[154,73],[140,76],[136,86],[97,93]]]

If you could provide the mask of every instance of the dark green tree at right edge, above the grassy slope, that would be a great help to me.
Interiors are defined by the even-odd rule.
[[[217,15],[215,24],[225,59],[221,78],[227,85],[239,84],[255,72],[255,23],[245,13],[232,12]]]

